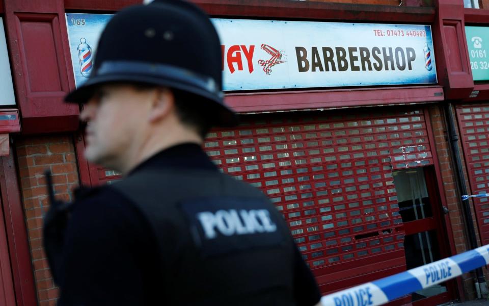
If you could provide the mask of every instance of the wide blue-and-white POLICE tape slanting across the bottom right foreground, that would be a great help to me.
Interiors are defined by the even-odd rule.
[[[489,265],[489,244],[321,298],[323,306],[382,305]]]

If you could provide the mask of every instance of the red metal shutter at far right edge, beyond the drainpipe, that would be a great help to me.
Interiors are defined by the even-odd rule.
[[[489,107],[457,108],[458,126],[464,148],[472,194],[489,193]],[[489,199],[472,198],[482,244],[489,243]]]

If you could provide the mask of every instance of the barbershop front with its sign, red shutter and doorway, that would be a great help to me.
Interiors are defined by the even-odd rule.
[[[88,77],[111,17],[66,14],[77,85]],[[221,37],[224,90],[247,100],[231,105],[246,108],[242,123],[212,131],[204,148],[223,172],[275,203],[322,293],[450,254],[429,114],[424,104],[404,106],[443,100],[430,25],[212,21]],[[343,87],[363,88],[357,94],[370,100],[362,104],[376,107],[334,110],[343,97],[335,105],[321,87],[339,95],[348,91]],[[381,92],[391,95],[389,103],[376,96]],[[317,101],[305,107],[311,93]],[[267,105],[276,95],[294,104]],[[89,172],[100,182],[120,177],[94,165]],[[448,301],[454,287],[443,284],[399,303]]]

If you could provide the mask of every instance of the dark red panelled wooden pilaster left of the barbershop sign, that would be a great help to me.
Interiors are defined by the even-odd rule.
[[[78,127],[78,106],[63,102],[74,80],[62,4],[5,0],[11,66],[26,133]]]

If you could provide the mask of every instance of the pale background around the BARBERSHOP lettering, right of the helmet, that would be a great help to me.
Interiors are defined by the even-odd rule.
[[[399,24],[368,24],[368,23],[337,23],[337,22],[310,22],[310,21],[271,21],[271,20],[245,20],[245,19],[212,19],[225,46],[224,53],[224,90],[249,89],[279,89],[279,88],[311,88],[311,87],[337,87],[337,86],[372,86],[372,85],[406,85],[437,83],[436,66],[434,62],[431,28],[429,25],[399,25]],[[379,30],[385,36],[376,36],[374,30]],[[399,31],[404,36],[387,36],[391,31]],[[401,32],[402,31],[402,32]],[[407,36],[411,31],[424,31],[425,37]],[[285,63],[271,67],[267,75],[259,60],[268,60],[270,55],[260,48],[267,44],[281,50]],[[432,69],[425,67],[425,43],[431,49]],[[253,55],[254,71],[249,73],[246,58],[243,52],[243,70],[230,72],[227,64],[227,50],[231,45],[255,46]],[[382,71],[318,71],[299,72],[295,47],[305,47],[311,65],[311,47],[316,46],[322,62],[321,47],[372,47],[392,48],[412,47],[416,52],[416,60],[412,63],[412,70],[382,70]],[[359,53],[356,53],[359,56]],[[373,62],[373,59],[370,60]],[[383,59],[383,56],[380,56]],[[336,57],[335,57],[336,58]],[[348,59],[348,55],[347,55]],[[349,60],[348,60],[349,62]],[[349,63],[350,64],[350,63]],[[361,65],[356,61],[356,65]],[[324,65],[323,65],[324,66]],[[234,64],[235,69],[237,65]],[[338,67],[336,67],[338,68]],[[384,68],[385,69],[385,68]],[[390,65],[389,65],[390,69]]]

